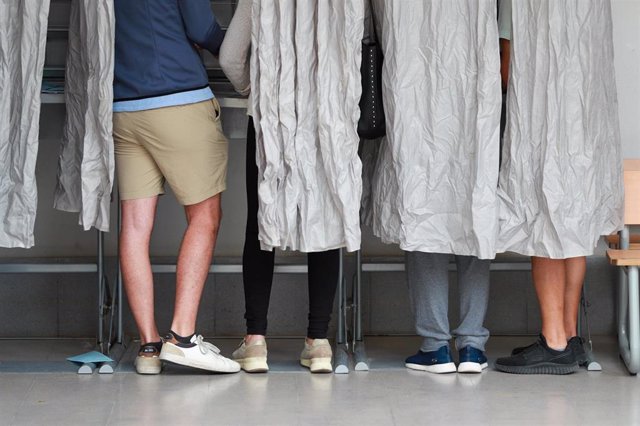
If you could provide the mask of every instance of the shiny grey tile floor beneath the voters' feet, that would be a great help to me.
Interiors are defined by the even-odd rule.
[[[495,337],[488,353],[529,341]],[[230,353],[238,341],[215,343]],[[301,341],[278,339],[270,341],[268,374],[169,367],[142,377],[132,373],[135,345],[116,374],[78,376],[61,360],[90,347],[86,341],[0,340],[0,424],[640,424],[640,382],[618,360],[614,338],[595,340],[603,372],[566,377],[405,370],[402,359],[417,343],[368,338],[372,371],[349,375],[308,374],[295,362]]]

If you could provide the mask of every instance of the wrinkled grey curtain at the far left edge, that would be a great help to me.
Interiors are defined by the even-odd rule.
[[[49,0],[0,0],[0,247],[29,248]]]

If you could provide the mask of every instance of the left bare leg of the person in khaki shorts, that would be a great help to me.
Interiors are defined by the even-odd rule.
[[[153,275],[149,240],[158,197],[122,201],[120,264],[127,300],[140,331],[142,344],[159,342],[153,306]]]

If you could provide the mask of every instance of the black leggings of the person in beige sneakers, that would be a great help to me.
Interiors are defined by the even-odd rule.
[[[267,311],[273,282],[274,252],[260,250],[258,240],[258,166],[253,120],[247,130],[247,229],[242,254],[247,334],[267,334]],[[340,251],[308,254],[309,325],[307,337],[325,339],[338,285]]]

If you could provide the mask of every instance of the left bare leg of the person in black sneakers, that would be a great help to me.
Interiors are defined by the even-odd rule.
[[[542,314],[542,334],[552,349],[567,346],[564,329],[565,261],[533,257],[533,283]]]

